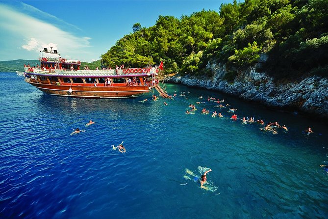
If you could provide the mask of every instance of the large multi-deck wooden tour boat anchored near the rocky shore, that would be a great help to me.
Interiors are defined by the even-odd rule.
[[[80,69],[81,62],[60,57],[56,50],[41,52],[40,66],[24,66],[17,72],[25,82],[42,92],[56,96],[79,98],[130,98],[157,90],[158,67],[127,69]]]

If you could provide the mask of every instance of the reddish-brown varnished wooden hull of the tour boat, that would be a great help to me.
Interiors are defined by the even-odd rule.
[[[77,98],[131,98],[149,92],[148,85],[95,87],[28,83],[49,95]]]

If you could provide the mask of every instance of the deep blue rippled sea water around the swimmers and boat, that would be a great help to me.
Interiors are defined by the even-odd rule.
[[[327,218],[328,126],[296,113],[167,84],[174,100],[54,97],[0,73],[0,218]],[[228,119],[278,121],[277,135]],[[164,106],[164,101],[169,105]],[[202,115],[201,109],[224,118]],[[87,127],[92,119],[96,124]],[[85,132],[70,135],[73,128]],[[314,134],[302,131],[311,127]],[[113,150],[124,141],[126,153]],[[186,169],[200,175],[200,188]],[[190,178],[190,179],[188,179]]]

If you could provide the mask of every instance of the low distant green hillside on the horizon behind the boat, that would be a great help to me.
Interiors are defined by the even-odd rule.
[[[29,64],[30,66],[36,66],[40,64],[39,60],[26,60],[26,59],[17,59],[10,61],[0,61],[0,72],[16,72],[16,71],[24,71],[24,64]],[[84,68],[85,65],[88,65],[90,69],[96,69],[96,67],[101,68],[101,60],[97,60],[94,62],[81,62],[81,69]]]

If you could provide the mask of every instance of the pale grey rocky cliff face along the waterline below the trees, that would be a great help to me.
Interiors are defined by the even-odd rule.
[[[206,68],[214,74],[213,80],[185,76],[172,77],[167,81],[217,90],[267,106],[298,109],[328,118],[327,78],[311,76],[300,82],[274,83],[273,78],[250,68],[239,72],[233,82],[227,82],[224,80],[227,74],[224,65],[212,62]]]

